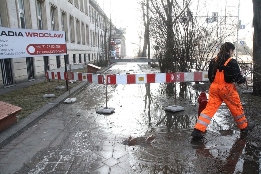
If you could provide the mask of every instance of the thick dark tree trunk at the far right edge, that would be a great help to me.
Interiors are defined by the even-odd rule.
[[[261,1],[253,0],[253,95],[261,96]]]

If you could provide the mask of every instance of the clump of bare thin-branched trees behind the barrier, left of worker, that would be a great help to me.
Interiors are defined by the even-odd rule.
[[[217,15],[215,19],[212,14],[202,16],[202,1],[197,2],[150,0],[150,35],[161,73],[206,70],[219,45],[235,34],[237,25],[233,19],[225,16],[219,21]],[[180,83],[180,91],[186,89],[185,85]]]

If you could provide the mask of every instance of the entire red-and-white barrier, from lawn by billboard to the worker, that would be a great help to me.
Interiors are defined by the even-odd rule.
[[[47,72],[46,78],[68,80],[66,72]],[[87,73],[70,73],[71,80],[104,84],[104,75]],[[107,75],[107,85],[137,83],[173,83],[173,82],[208,81],[208,72],[179,72],[156,74],[118,74]]]

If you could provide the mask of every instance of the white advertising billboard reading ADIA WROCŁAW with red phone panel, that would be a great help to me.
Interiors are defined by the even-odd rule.
[[[0,59],[66,55],[63,31],[0,27]]]

